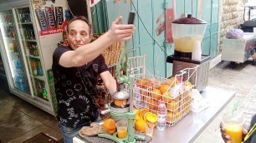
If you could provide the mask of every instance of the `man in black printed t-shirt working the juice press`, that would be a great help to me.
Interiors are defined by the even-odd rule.
[[[67,25],[69,47],[54,51],[57,119],[65,143],[72,142],[82,126],[100,120],[95,105],[96,77],[100,75],[111,95],[116,91],[115,79],[100,53],[114,42],[131,39],[134,25],[122,25],[121,20],[117,18],[108,32],[90,42],[90,22],[82,16],[74,17]]]

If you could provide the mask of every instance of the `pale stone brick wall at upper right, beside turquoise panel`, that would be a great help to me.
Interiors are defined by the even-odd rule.
[[[243,23],[243,7],[241,0],[220,0],[220,33],[219,33],[219,52],[221,52],[223,38],[231,28],[238,28]]]

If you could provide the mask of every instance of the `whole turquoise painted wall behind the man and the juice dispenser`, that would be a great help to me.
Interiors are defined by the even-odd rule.
[[[166,4],[164,4],[166,3]],[[172,76],[172,64],[166,63],[166,56],[172,55],[173,44],[165,43],[165,31],[156,34],[157,27],[165,22],[165,7],[172,7],[172,0],[132,0],[120,3],[101,0],[100,4],[91,9],[95,32],[105,32],[115,20],[122,16],[127,22],[129,11],[136,12],[136,32],[129,42],[129,56],[146,54],[146,68],[156,76]],[[197,17],[197,0],[177,0],[177,17],[192,14]],[[202,53],[215,57],[218,43],[218,0],[203,0],[202,19],[207,21],[207,30],[202,41]],[[157,18],[161,17],[158,22]],[[171,27],[167,26],[166,27]],[[155,40],[153,40],[155,39]]]

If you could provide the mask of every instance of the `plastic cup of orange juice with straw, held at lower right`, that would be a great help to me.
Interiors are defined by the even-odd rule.
[[[225,113],[223,115],[223,127],[226,133],[230,136],[232,143],[242,142],[242,130],[243,130],[243,116],[241,113]]]

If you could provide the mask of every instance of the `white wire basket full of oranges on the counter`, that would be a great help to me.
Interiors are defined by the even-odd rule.
[[[133,95],[137,108],[157,115],[157,107],[160,101],[164,101],[167,108],[166,123],[170,126],[191,111],[193,86],[189,80],[192,75],[197,75],[197,67],[184,69],[167,79],[147,72],[145,56],[142,56],[129,58],[129,69],[135,75]]]

